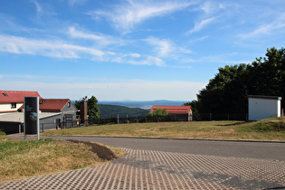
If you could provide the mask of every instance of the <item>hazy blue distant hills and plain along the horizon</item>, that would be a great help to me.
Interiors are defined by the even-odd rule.
[[[181,106],[187,101],[172,101],[172,100],[153,100],[153,101],[99,101],[99,104],[109,104],[117,106],[125,106],[129,108],[140,108],[150,110],[153,105],[159,106]]]

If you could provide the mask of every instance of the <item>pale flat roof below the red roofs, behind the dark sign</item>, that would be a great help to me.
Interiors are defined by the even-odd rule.
[[[40,119],[49,118],[61,114],[61,112],[40,112]],[[0,122],[17,122],[24,123],[24,112],[0,113]]]

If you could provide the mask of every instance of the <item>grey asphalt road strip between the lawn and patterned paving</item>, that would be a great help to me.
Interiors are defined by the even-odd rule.
[[[111,147],[126,147],[204,156],[243,157],[285,161],[285,143],[74,136],[46,138],[78,139],[98,142]]]

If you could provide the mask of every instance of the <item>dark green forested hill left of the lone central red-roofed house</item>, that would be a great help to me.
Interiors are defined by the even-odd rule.
[[[100,109],[100,118],[110,118],[115,117],[117,118],[118,114],[119,117],[145,117],[147,116],[149,110],[146,109],[139,109],[139,108],[128,108],[125,106],[117,106],[117,105],[108,105],[108,104],[98,104]]]

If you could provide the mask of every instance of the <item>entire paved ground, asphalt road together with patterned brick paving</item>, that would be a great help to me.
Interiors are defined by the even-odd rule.
[[[22,135],[10,136],[23,139]],[[28,139],[35,139],[30,136]],[[284,189],[285,143],[44,137],[121,147],[104,165],[0,183],[0,189]]]

